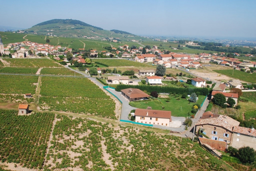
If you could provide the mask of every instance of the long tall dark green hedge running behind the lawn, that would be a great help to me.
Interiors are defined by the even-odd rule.
[[[168,86],[147,86],[147,85],[125,85],[120,84],[116,86],[116,91],[121,91],[126,88],[138,88],[142,91],[152,92],[156,91],[157,93],[176,93],[176,94],[192,94],[200,92],[201,95],[207,95],[209,93],[208,88],[183,88],[183,87],[168,87]]]

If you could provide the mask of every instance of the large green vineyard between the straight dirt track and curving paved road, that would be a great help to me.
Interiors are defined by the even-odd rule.
[[[115,102],[87,78],[42,77],[41,109],[116,119]]]

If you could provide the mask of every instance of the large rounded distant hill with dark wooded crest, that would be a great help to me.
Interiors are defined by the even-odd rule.
[[[133,35],[126,31],[120,30],[104,30],[100,27],[92,26],[85,22],[72,19],[53,19],[36,24],[26,29],[26,33],[34,33],[37,35],[48,35],[58,37],[94,37],[97,39],[106,37],[123,37]]]

